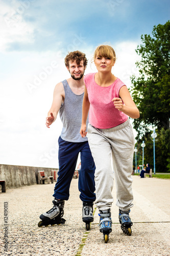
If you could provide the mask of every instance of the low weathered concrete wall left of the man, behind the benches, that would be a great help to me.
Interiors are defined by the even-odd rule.
[[[5,180],[6,188],[38,184],[38,170],[44,170],[46,176],[51,176],[51,170],[58,169],[0,164],[0,180]]]

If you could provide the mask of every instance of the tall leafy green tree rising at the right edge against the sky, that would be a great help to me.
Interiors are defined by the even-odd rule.
[[[136,62],[139,77],[132,76],[132,97],[140,111],[134,120],[137,138],[149,132],[149,126],[169,130],[170,117],[170,22],[154,26],[151,35],[141,36],[137,47],[141,60]]]

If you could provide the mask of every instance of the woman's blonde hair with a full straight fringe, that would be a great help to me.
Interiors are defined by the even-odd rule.
[[[91,62],[95,62],[95,58],[96,56],[102,56],[102,57],[107,57],[107,58],[110,58],[112,60],[112,63],[111,65],[115,62],[116,60],[116,54],[115,54],[115,51],[114,49],[111,47],[111,46],[108,46],[108,45],[101,45],[101,46],[98,46],[96,49],[95,49],[95,52],[94,52],[94,56],[91,60]]]

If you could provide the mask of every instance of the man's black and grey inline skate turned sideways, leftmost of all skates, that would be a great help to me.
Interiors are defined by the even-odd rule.
[[[64,201],[54,199],[53,204],[54,206],[52,209],[40,215],[39,218],[42,221],[38,223],[38,227],[46,227],[48,225],[54,226],[55,224],[60,225],[65,223],[65,220],[61,218],[64,215]]]

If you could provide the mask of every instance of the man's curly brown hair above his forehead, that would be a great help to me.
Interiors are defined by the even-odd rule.
[[[80,51],[69,52],[64,59],[65,66],[69,68],[69,61],[74,61],[74,60],[76,60],[77,65],[79,65],[80,61],[83,60],[84,68],[86,68],[88,60],[86,58],[85,53]]]

